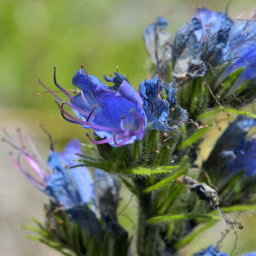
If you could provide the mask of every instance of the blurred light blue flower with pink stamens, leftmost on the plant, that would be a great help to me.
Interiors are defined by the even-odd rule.
[[[13,141],[9,134],[4,131],[10,141],[6,141],[15,149],[19,150],[18,157],[11,154],[11,158],[26,178],[38,189],[54,199],[55,203],[60,207],[70,208],[79,206],[83,203],[90,204],[95,201],[93,191],[93,181],[90,172],[86,167],[72,168],[75,163],[74,159],[79,159],[76,154],[82,154],[82,148],[79,140],[73,139],[67,143],[66,148],[62,152],[55,152],[53,147],[50,148],[47,164],[38,154],[38,150],[28,137],[35,157],[28,154],[23,143],[20,131],[20,147]],[[32,167],[34,173],[27,172],[21,165],[20,160],[24,158]]]

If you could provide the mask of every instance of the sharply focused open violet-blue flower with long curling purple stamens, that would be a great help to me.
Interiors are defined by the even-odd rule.
[[[74,97],[57,84],[55,75],[54,80],[55,85],[68,96],[70,103],[64,102],[40,81],[39,83],[62,102],[61,106],[56,101],[64,119],[82,125],[86,129],[91,128],[98,137],[103,138],[101,141],[96,141],[88,135],[90,142],[124,146],[143,138],[147,126],[146,115],[142,108],[143,99],[125,79],[119,89],[113,91],[96,77],[88,76],[85,70],[79,70],[73,77],[73,85],[79,87],[81,92]],[[64,104],[72,108],[78,118],[67,113],[62,108]]]

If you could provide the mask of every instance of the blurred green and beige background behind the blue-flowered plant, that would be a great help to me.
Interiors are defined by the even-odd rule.
[[[196,1],[196,6],[224,11],[227,1]],[[229,14],[235,17],[243,9],[253,9],[254,0],[234,1]],[[148,55],[143,45],[143,30],[158,15],[170,21],[173,33],[195,13],[189,0],[1,0],[0,2],[0,127],[17,139],[16,128],[30,134],[47,159],[49,143],[39,123],[60,139],[55,148],[60,150],[73,137],[86,142],[85,131],[79,125],[61,118],[53,96],[44,94],[38,79],[55,90],[53,67],[57,65],[57,80],[65,89],[73,89],[73,74],[84,63],[87,73],[102,79],[103,74],[125,73],[137,88],[148,77]],[[219,117],[221,118],[221,116]],[[227,122],[219,123],[223,128]],[[213,129],[201,145],[200,158],[205,159],[220,136]],[[20,224],[32,224],[28,217],[44,219],[43,205],[46,195],[35,189],[15,168],[9,158],[13,151],[7,143],[0,144],[0,256],[59,255],[48,247],[30,241],[20,230]],[[131,195],[124,189],[120,210]],[[131,206],[136,202],[132,201]],[[128,217],[127,217],[128,216]],[[125,228],[132,231],[136,215],[131,207],[119,216]],[[244,230],[239,232],[238,249],[254,244],[256,215],[243,214]],[[218,227],[218,228],[217,228]],[[185,253],[193,253],[220,238],[227,227],[219,222],[206,234],[192,242]],[[254,237],[253,237],[254,236]],[[235,235],[224,241],[224,250],[230,252]],[[188,254],[188,255],[189,255]]]

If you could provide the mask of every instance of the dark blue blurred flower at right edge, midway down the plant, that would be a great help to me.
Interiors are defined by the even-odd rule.
[[[247,137],[248,131],[256,126],[256,119],[239,116],[218,139],[204,169],[212,175],[230,177],[245,171],[245,177],[256,177],[256,138]]]

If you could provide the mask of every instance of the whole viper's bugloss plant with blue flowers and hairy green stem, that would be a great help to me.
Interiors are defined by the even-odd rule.
[[[50,197],[45,223],[32,219],[37,229],[24,226],[38,233],[30,238],[64,255],[171,256],[223,220],[218,243],[209,241],[194,255],[227,255],[220,252],[224,237],[242,224],[226,212],[256,209],[256,115],[241,109],[256,98],[256,21],[253,12],[245,20],[242,14],[232,20],[227,12],[198,8],[174,36],[158,17],[144,31],[150,79],[138,91],[118,70],[104,76],[107,86],[84,65],[73,77],[75,96],[57,83],[56,67],[54,83],[63,96],[39,80],[55,97],[63,125],[87,129],[91,146],[82,148],[79,138],[55,152],[49,136],[46,164],[30,137],[35,156],[20,131],[19,146],[3,130],[18,151],[11,156],[15,165]],[[199,164],[199,146],[218,126],[219,112],[230,125]],[[119,224],[121,185],[137,199],[136,236]]]

